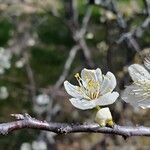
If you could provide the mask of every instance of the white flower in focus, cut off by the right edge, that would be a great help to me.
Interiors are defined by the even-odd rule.
[[[122,99],[134,107],[150,108],[150,73],[139,64],[129,66],[128,70],[134,82],[126,87]]]

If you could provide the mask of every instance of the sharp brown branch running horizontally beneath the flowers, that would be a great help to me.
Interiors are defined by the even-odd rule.
[[[1,123],[0,124],[0,134],[6,135],[13,131],[20,129],[38,129],[50,132],[55,132],[57,134],[67,134],[75,132],[85,132],[85,133],[104,133],[120,135],[124,138],[131,136],[150,136],[150,127],[144,126],[119,126],[114,125],[113,128],[110,127],[100,127],[97,123],[83,123],[83,124],[68,124],[68,123],[55,123],[40,121],[32,118],[28,114],[12,114],[17,121]]]

